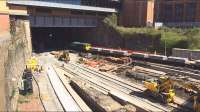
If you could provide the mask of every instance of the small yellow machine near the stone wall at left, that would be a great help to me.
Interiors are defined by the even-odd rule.
[[[39,65],[38,60],[35,57],[29,59],[26,63],[26,69],[31,70],[32,72],[41,72],[42,67]]]

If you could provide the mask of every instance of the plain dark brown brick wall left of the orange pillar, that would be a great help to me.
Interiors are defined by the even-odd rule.
[[[119,21],[125,27],[146,26],[147,0],[124,0]]]

